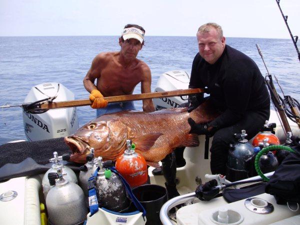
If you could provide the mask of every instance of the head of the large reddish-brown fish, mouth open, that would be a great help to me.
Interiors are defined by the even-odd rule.
[[[113,121],[92,120],[80,127],[74,134],[64,137],[65,143],[72,151],[70,161],[84,163],[87,154],[94,149],[94,155],[109,158],[110,148],[115,147],[119,142],[125,142],[126,135],[124,127],[117,126]],[[122,140],[120,140],[122,139]],[[110,152],[113,154],[113,152]],[[107,157],[108,154],[108,157]]]

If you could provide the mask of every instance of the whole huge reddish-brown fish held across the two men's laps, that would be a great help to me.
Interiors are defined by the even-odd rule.
[[[90,148],[103,160],[115,160],[126,148],[126,139],[135,144],[147,164],[157,165],[178,146],[198,146],[196,134],[189,134],[187,118],[205,123],[218,115],[205,101],[187,112],[186,107],[161,109],[154,112],[120,111],[101,115],[80,127],[73,135],[64,137],[72,154],[70,160],[86,162]]]

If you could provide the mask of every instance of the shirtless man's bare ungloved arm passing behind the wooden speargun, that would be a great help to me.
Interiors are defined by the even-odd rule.
[[[149,93],[151,92],[151,71],[146,64],[143,66],[142,71],[141,93]],[[155,111],[152,99],[142,100],[142,110],[145,112]]]

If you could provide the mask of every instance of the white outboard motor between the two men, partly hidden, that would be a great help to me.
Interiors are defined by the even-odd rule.
[[[183,70],[167,71],[160,75],[155,92],[187,89],[189,84],[190,75]],[[187,102],[187,96],[173,96],[154,98],[153,103],[155,109],[178,107],[180,104]]]

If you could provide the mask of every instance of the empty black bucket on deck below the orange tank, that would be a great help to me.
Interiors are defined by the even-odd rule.
[[[165,187],[156,184],[144,184],[134,187],[132,192],[146,210],[146,224],[162,224],[159,219],[159,211],[167,201]]]

